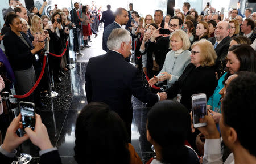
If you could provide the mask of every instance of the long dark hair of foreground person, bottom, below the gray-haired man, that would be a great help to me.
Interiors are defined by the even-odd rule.
[[[103,102],[89,103],[76,120],[77,163],[130,163],[123,120]],[[114,158],[113,158],[114,157]]]

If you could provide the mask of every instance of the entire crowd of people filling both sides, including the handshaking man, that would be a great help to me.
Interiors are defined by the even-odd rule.
[[[3,44],[10,66],[5,65],[6,60],[0,62],[2,67],[13,68],[13,75],[7,70],[6,74],[15,77],[17,93],[24,94],[34,85],[36,70],[42,67],[42,49],[62,53],[69,29],[82,23],[82,40],[89,47],[89,36],[97,31],[100,19],[94,12],[96,16],[91,18],[93,7],[89,5],[82,6],[81,14],[79,3],[74,7],[71,20],[67,8],[56,8],[51,18],[40,18],[42,12],[37,8],[31,8],[36,14],[32,18],[24,7],[6,14],[9,31]],[[134,96],[151,107],[146,137],[156,156],[148,164],[255,163],[256,149],[251,142],[256,137],[256,12],[246,8],[242,15],[238,3],[224,18],[209,4],[199,13],[184,2],[183,12],[176,8],[175,16],[155,10],[154,16],[143,18],[131,3],[128,11],[117,8],[112,12],[110,5],[107,8],[101,21],[102,49],[106,54],[90,58],[86,67],[88,105],[76,121],[75,160],[142,163],[130,144]],[[93,21],[96,29],[91,26]],[[131,49],[136,67],[129,63]],[[67,58],[68,54],[49,57],[50,78],[55,82],[61,81],[59,75],[65,71]],[[148,79],[148,88],[143,76]],[[167,89],[160,91],[163,85]],[[200,120],[207,125],[195,130],[191,96],[199,93],[207,97],[208,115]],[[61,163],[40,115],[36,115],[35,131],[27,127],[27,135],[22,137],[15,134],[19,120],[20,115],[7,130],[0,158],[12,161],[15,148],[30,139],[41,149],[41,163],[51,163],[49,159]]]

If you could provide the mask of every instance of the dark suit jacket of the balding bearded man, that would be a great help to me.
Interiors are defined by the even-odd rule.
[[[214,46],[216,38],[211,37],[208,40],[212,42],[212,45]],[[215,48],[217,59],[215,61],[214,70],[218,73],[218,77],[222,76],[223,71],[226,68],[226,54],[228,54],[230,41],[231,38],[227,36]]]

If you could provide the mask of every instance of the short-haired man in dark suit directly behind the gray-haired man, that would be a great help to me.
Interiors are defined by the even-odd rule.
[[[128,12],[125,8],[117,8],[115,11],[115,21],[112,24],[109,24],[108,27],[104,28],[103,37],[102,37],[102,49],[108,51],[107,41],[110,33],[115,28],[121,28],[122,25],[127,24],[129,20]]]

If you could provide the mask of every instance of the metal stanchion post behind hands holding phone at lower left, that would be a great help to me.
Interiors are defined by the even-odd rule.
[[[15,118],[15,115],[14,115],[14,111],[11,109],[10,98],[13,98],[13,96],[10,95],[9,92],[3,92],[2,100],[5,101],[6,103],[6,107],[9,115],[9,121],[11,123]],[[18,146],[16,150],[17,150],[17,153],[15,156],[18,158],[18,160],[11,162],[12,164],[26,164],[31,161],[32,157],[30,156],[30,154],[20,153],[20,146]]]

